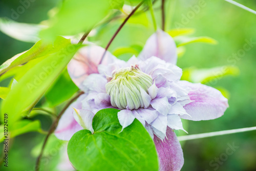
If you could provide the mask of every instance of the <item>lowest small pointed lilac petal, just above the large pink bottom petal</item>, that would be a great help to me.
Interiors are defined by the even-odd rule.
[[[167,129],[167,116],[159,114],[158,117],[151,123],[154,134],[160,139],[164,139]]]

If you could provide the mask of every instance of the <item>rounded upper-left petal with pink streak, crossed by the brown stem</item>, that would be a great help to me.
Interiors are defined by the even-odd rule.
[[[68,72],[74,83],[80,89],[83,87],[83,80],[86,79],[88,75],[98,73],[98,65],[104,52],[104,48],[96,45],[88,45],[81,48],[70,61],[68,65]],[[102,64],[108,65],[109,63],[112,63],[115,58],[115,56],[107,51]]]

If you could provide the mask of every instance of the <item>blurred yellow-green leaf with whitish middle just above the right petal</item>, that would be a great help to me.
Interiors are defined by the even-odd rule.
[[[196,69],[188,68],[183,70],[183,80],[190,82],[207,83],[210,81],[216,81],[226,75],[237,76],[239,74],[239,68],[234,66],[222,66],[210,69]]]

